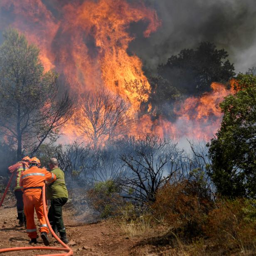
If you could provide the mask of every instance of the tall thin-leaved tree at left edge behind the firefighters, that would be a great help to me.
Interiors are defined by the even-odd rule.
[[[67,94],[58,100],[57,74],[44,72],[39,49],[9,29],[0,46],[0,133],[14,143],[17,160],[53,141],[73,113]]]

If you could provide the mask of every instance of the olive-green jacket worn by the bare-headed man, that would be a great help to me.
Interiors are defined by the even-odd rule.
[[[68,191],[65,184],[65,175],[59,167],[52,169],[50,172],[56,175],[56,180],[52,182],[46,189],[47,199],[54,199],[60,197],[68,198]]]

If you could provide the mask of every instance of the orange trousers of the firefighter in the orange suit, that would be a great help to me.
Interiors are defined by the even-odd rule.
[[[42,194],[34,195],[34,196],[26,196],[23,194],[23,202],[24,202],[24,213],[27,219],[27,234],[32,238],[37,238],[37,227],[34,224],[34,209],[37,213],[37,218],[40,222],[40,232],[49,233],[49,229],[47,228],[46,220],[44,217],[44,208],[43,208],[43,200]]]

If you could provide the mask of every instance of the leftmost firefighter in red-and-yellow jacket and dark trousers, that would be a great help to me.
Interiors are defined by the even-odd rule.
[[[24,214],[24,205],[22,194],[23,192],[20,189],[20,177],[25,170],[28,169],[28,162],[30,161],[30,157],[25,156],[22,158],[21,162],[17,162],[17,164],[10,166],[8,169],[10,172],[16,172],[16,180],[15,180],[15,188],[14,188],[14,195],[16,197],[16,207],[17,207],[17,219],[19,220],[20,226],[25,224],[26,226],[26,217]],[[27,163],[27,165],[26,165]],[[14,168],[12,168],[14,167]]]

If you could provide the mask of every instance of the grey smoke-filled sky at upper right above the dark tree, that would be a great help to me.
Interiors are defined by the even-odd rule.
[[[145,3],[162,20],[157,32],[149,38],[139,36],[130,44],[130,51],[143,59],[146,69],[154,70],[172,54],[196,47],[201,41],[214,42],[218,48],[226,49],[236,72],[256,65],[255,0],[145,0]]]

